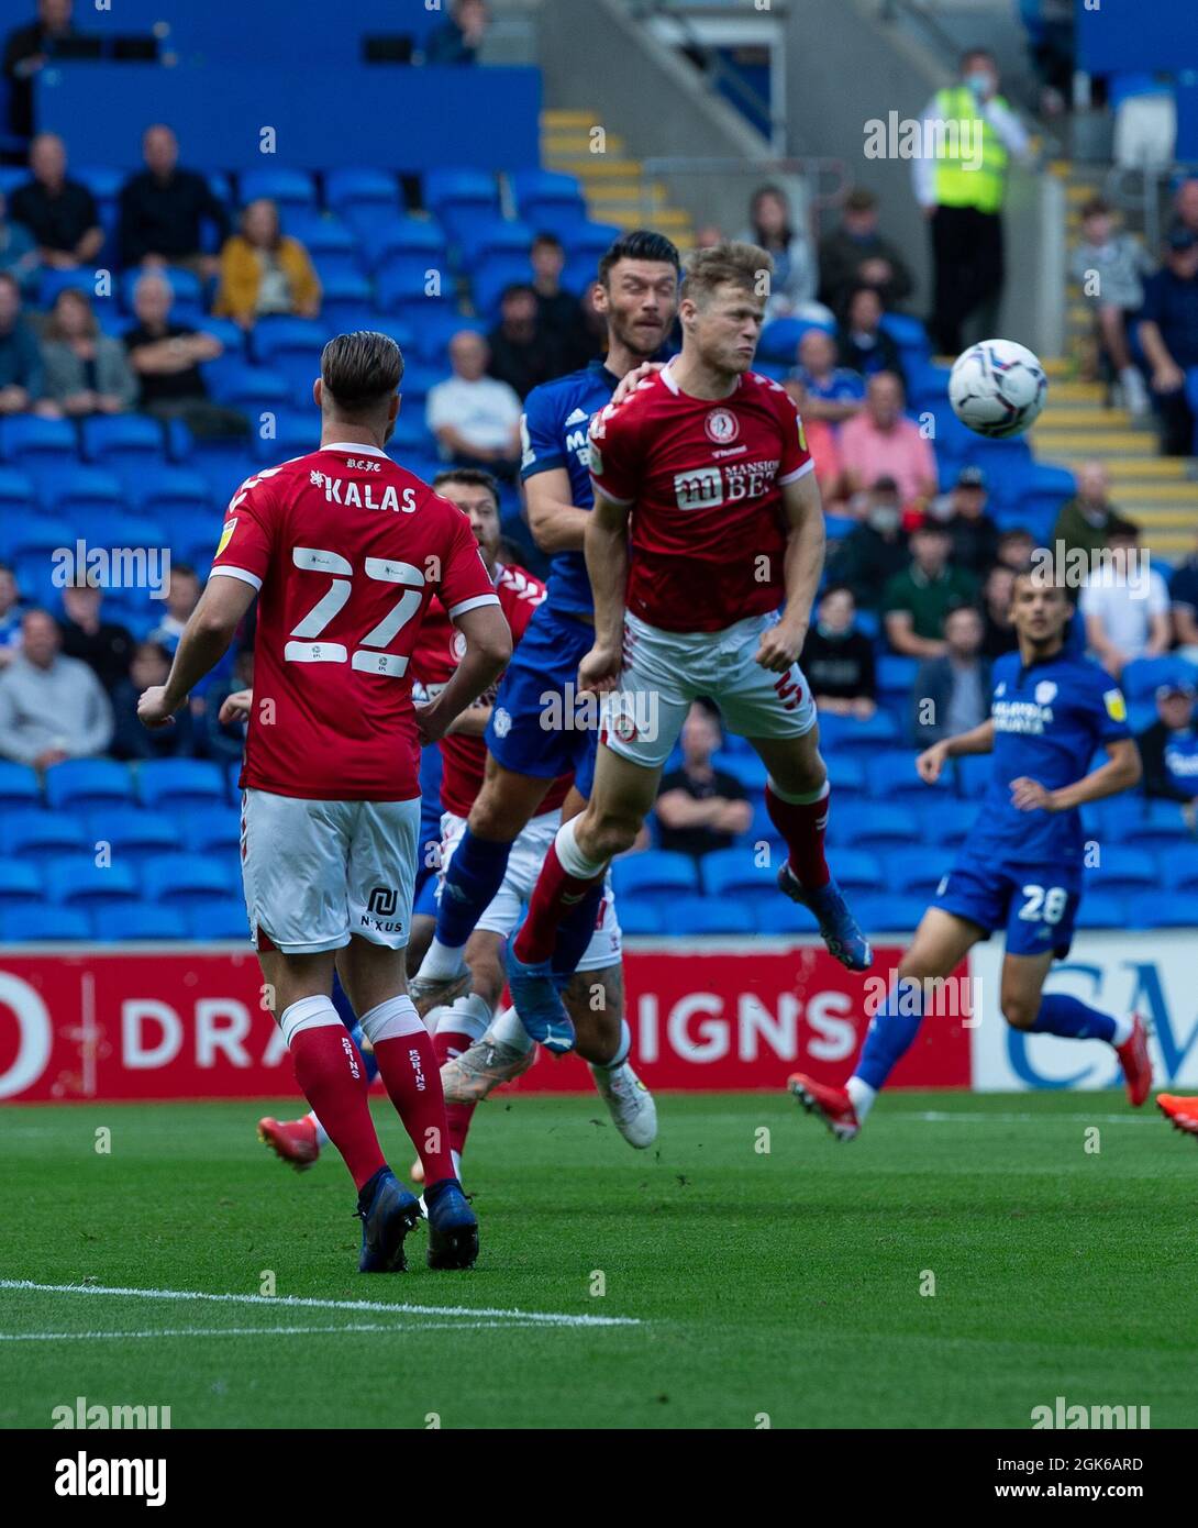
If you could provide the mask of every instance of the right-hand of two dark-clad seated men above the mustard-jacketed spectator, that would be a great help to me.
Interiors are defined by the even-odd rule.
[[[229,235],[229,215],[203,176],[179,168],[179,139],[156,122],[142,134],[145,170],[121,186],[121,264],[189,266],[197,275],[214,277],[215,255],[202,252],[203,225]]]

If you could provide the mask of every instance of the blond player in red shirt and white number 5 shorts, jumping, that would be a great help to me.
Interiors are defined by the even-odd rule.
[[[788,850],[779,889],[814,912],[850,970],[871,961],[824,859],[828,776],[798,668],[824,565],[814,463],[785,391],[750,370],[772,269],[753,244],[695,254],[682,354],[591,422],[594,646],[578,683],[605,695],[596,779],[507,949],[516,1010],[552,1050],[573,1044],[558,929],[633,845],[697,697],[718,703],[769,770],[766,802]]]

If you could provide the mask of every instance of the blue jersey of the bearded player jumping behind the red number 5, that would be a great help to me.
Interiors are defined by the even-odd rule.
[[[587,431],[591,416],[611,402],[619,380],[602,361],[591,361],[581,371],[542,382],[529,393],[520,422],[521,481],[527,483],[538,472],[565,468],[570,475],[570,503],[578,509],[591,509],[594,497]],[[553,558],[544,602],[555,610],[593,614],[591,582],[581,549],[559,552]]]

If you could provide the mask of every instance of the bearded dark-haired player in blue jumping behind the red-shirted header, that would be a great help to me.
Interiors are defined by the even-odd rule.
[[[546,599],[500,681],[486,730],[483,788],[445,876],[437,932],[408,990],[420,1013],[466,969],[465,947],[500,889],[512,843],[538,814],[556,778],[573,770],[562,805],[573,816],[590,792],[596,732],[579,717],[578,666],[594,643],[594,607],[582,533],[591,510],[587,431],[628,371],[669,338],[678,306],[678,252],[662,234],[625,234],[599,261],[594,306],[607,316],[608,351],[581,371],[544,382],[524,402],[521,480],[529,527],[552,556]],[[565,721],[550,724],[549,718]],[[562,941],[573,970],[594,931],[601,891],[579,903]]]

